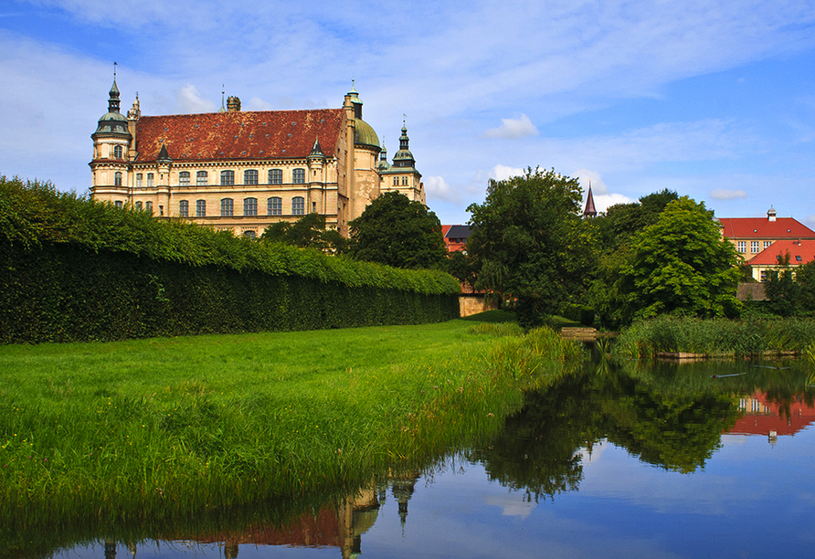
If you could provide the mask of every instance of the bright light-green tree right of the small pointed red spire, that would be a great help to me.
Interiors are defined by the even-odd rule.
[[[687,196],[671,202],[631,241],[630,263],[620,279],[630,317],[737,315],[736,249],[722,238],[704,203]]]

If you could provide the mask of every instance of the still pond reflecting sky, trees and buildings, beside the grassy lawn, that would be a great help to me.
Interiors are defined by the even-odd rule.
[[[488,444],[283,516],[84,534],[40,555],[769,557],[815,544],[815,390],[796,361],[587,365]]]

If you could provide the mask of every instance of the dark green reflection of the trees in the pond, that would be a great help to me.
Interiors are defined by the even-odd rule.
[[[595,366],[596,368],[596,366]],[[709,377],[709,374],[708,374]],[[663,392],[642,375],[609,367],[562,378],[527,395],[492,446],[471,452],[492,480],[541,495],[577,490],[581,448],[608,438],[644,462],[683,473],[704,467],[732,427],[731,396],[704,389]]]

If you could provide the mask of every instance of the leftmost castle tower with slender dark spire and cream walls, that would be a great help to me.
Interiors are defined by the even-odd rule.
[[[116,86],[115,72],[108,111],[102,115],[96,132],[90,138],[93,140],[93,160],[89,163],[92,176],[90,194],[96,199],[123,206],[128,202],[132,135],[128,131],[127,117],[119,112],[119,88]]]

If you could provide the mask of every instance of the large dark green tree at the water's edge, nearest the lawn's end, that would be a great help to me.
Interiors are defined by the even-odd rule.
[[[513,298],[525,327],[585,288],[592,244],[581,198],[577,179],[529,168],[491,180],[484,203],[467,208],[467,247],[481,265],[476,288]]]

